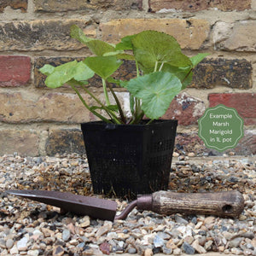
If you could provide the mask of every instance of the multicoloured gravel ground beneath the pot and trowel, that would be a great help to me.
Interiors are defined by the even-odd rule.
[[[237,189],[245,199],[239,218],[161,216],[134,209],[125,220],[110,222],[61,214],[59,208],[7,195],[5,190],[48,189],[93,195],[84,156],[0,156],[0,255],[218,252],[256,256],[256,158],[193,156],[174,158],[170,189]],[[128,203],[115,201],[119,211]]]

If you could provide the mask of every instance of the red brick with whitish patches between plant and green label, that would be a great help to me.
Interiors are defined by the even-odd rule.
[[[204,102],[183,92],[174,98],[162,119],[177,119],[178,125],[195,125],[205,110]]]

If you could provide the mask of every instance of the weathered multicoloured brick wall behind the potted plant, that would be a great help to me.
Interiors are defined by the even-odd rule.
[[[255,19],[256,0],[0,1],[0,154],[84,153],[79,123],[94,117],[69,88],[46,88],[38,72],[88,54],[69,37],[73,24],[112,43],[154,29],[172,34],[187,55],[211,53],[164,117],[179,120],[175,150],[218,154],[197,136],[197,120],[223,103],[245,120],[245,136],[230,151],[256,154]],[[125,65],[120,75],[134,75]],[[96,80],[90,86],[101,96]]]

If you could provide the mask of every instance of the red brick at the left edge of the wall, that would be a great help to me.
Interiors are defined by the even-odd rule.
[[[0,87],[15,87],[29,82],[31,60],[27,56],[0,55]]]

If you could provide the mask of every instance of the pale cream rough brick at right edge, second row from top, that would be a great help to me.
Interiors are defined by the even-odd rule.
[[[235,23],[218,22],[212,31],[216,49],[236,51],[256,51],[256,21],[243,20]]]

